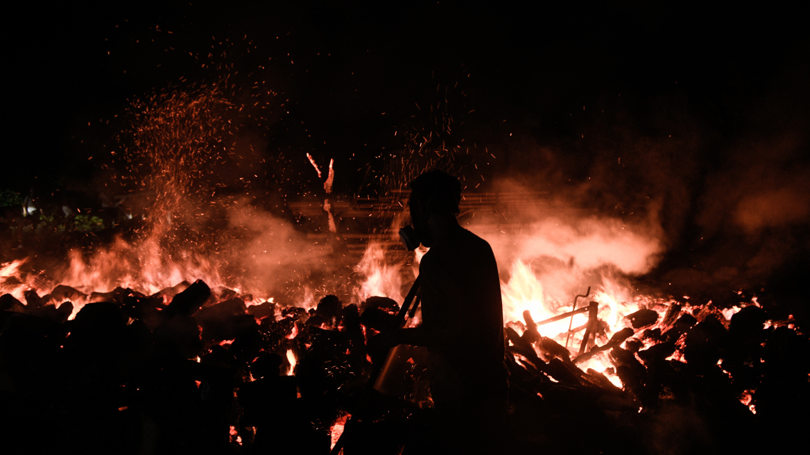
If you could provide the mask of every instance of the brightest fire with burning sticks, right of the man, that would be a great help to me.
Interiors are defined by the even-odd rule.
[[[573,281],[564,276],[566,273],[582,275],[579,270],[558,267],[552,276],[563,282]],[[531,354],[539,359],[571,359],[583,371],[603,374],[613,385],[621,387],[612,365],[615,362],[608,357],[608,352],[624,347],[628,339],[634,343],[635,351],[656,344],[654,336],[649,334],[660,334],[669,328],[681,307],[671,300],[634,296],[629,283],[614,274],[591,274],[591,278],[598,280],[596,291],[580,301],[579,311],[573,312],[572,304],[560,303],[548,296],[544,283],[531,266],[518,259],[509,280],[501,283],[504,320],[507,327],[514,330],[512,336],[520,336],[521,342],[528,342]],[[571,291],[571,296],[576,291],[576,288]],[[571,301],[569,297],[568,302]],[[590,311],[584,308],[588,306]],[[568,312],[573,314],[562,317]],[[632,357],[633,353],[630,355]],[[526,361],[524,353],[518,363]]]

